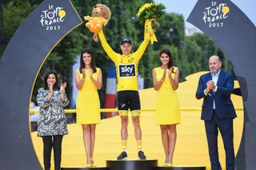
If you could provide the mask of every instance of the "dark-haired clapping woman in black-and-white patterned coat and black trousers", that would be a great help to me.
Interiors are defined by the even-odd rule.
[[[52,148],[54,148],[54,170],[61,168],[62,137],[68,134],[63,109],[69,104],[65,88],[66,83],[58,87],[57,74],[50,72],[44,77],[44,88],[38,89],[37,102],[40,106],[38,136],[42,136],[45,170],[50,170]]]

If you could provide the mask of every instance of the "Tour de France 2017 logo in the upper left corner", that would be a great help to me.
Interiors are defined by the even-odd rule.
[[[63,7],[49,5],[47,10],[43,10],[40,15],[40,23],[46,30],[60,30],[61,22],[64,22],[66,11]]]

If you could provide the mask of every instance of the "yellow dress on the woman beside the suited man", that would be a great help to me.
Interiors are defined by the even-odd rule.
[[[174,67],[176,72],[177,67]],[[164,69],[160,67],[154,69],[157,80],[160,81]],[[174,78],[175,73],[171,74]],[[168,70],[166,71],[166,79],[162,82],[162,86],[158,89],[156,100],[156,124],[158,125],[174,125],[181,122],[178,96],[170,85]]]

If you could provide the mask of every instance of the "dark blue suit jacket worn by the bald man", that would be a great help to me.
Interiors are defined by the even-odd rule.
[[[196,97],[197,99],[203,98],[201,119],[210,121],[213,116],[214,102],[215,112],[220,119],[234,119],[234,117],[237,117],[234,105],[230,99],[230,95],[234,89],[234,77],[232,74],[221,70],[218,76],[217,91],[210,90],[211,96],[206,96],[204,90],[207,87],[207,81],[210,80],[212,80],[212,77],[209,72],[203,74],[198,82]]]

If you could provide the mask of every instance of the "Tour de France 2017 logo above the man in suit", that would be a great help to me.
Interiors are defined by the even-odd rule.
[[[210,28],[222,27],[224,20],[228,18],[230,12],[229,6],[226,3],[211,2],[211,6],[206,7],[203,12],[202,20]]]

